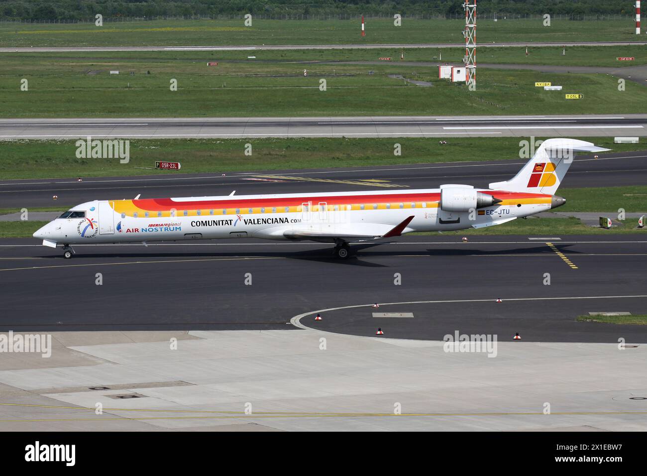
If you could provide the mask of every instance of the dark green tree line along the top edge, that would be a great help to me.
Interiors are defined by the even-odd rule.
[[[482,0],[483,14],[628,15],[633,0]],[[452,15],[463,12],[462,0],[3,0],[0,19],[91,20],[105,17],[311,15]]]

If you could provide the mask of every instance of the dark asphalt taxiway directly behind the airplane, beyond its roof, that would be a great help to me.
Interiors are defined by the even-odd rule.
[[[0,203],[9,207],[62,209],[94,199],[186,197],[236,194],[335,192],[437,188],[465,183],[486,188],[488,183],[513,177],[527,159],[492,162],[411,164],[354,168],[273,170],[215,174],[164,174],[136,177],[83,177],[0,181]],[[377,181],[374,181],[377,180]],[[647,151],[577,155],[562,187],[618,187],[647,183]],[[52,200],[52,196],[58,200]]]

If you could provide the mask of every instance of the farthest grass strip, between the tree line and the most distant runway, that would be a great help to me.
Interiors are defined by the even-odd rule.
[[[355,20],[260,20],[251,27],[240,20],[160,20],[126,23],[0,24],[0,43],[6,47],[125,46],[125,45],[319,45],[371,43],[464,43],[464,20],[368,19],[366,36]],[[633,19],[570,21],[542,19],[494,22],[479,19],[480,43],[522,41],[637,41]]]

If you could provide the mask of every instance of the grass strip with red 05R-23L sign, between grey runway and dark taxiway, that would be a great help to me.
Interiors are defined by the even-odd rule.
[[[519,137],[448,137],[444,138],[447,141],[444,145],[438,143],[439,139],[136,139],[130,141],[130,162],[127,164],[121,164],[118,159],[78,159],[74,140],[2,141],[0,179],[178,175],[177,172],[153,168],[155,161],[168,161],[171,158],[182,164],[182,173],[186,174],[526,160],[519,158],[519,142],[522,139]],[[613,144],[612,137],[582,139],[611,148],[613,152],[644,148],[644,144]],[[246,143],[252,144],[251,156],[244,155]],[[402,155],[393,155],[395,143],[401,145]],[[571,197],[567,198],[569,201],[565,207],[571,207]]]

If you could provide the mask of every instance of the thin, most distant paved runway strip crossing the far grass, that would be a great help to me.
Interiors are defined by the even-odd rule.
[[[479,43],[479,48],[518,46],[629,46],[647,45],[647,41],[540,41],[536,43]],[[105,46],[105,47],[3,47],[0,52],[65,52],[65,51],[247,51],[247,50],[345,50],[380,48],[455,48],[457,43],[380,43],[355,45],[237,45],[237,46]]]

